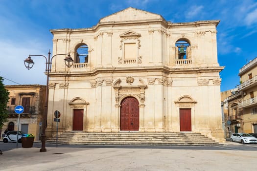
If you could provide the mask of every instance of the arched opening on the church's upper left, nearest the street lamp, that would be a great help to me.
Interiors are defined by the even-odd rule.
[[[80,44],[76,49],[75,63],[88,63],[88,45]]]

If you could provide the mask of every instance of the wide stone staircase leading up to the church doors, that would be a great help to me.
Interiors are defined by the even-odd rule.
[[[56,137],[47,140],[56,143]],[[144,146],[210,146],[219,143],[192,132],[82,132],[64,131],[58,136],[58,144],[77,145],[144,145]]]

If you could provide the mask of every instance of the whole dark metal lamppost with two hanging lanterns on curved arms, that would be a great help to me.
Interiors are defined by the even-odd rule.
[[[48,52],[48,58],[45,57],[44,55],[29,55],[27,59],[24,60],[24,65],[25,67],[29,70],[33,67],[34,62],[31,59],[31,56],[41,56],[44,57],[46,59],[46,75],[47,75],[47,89],[46,89],[46,100],[45,100],[45,109],[44,109],[44,116],[43,116],[43,123],[42,123],[42,134],[41,134],[41,149],[40,152],[46,152],[46,128],[47,128],[47,110],[48,110],[48,94],[49,94],[49,90],[48,90],[48,82],[49,82],[49,73],[51,72],[51,67],[52,67],[52,59],[57,56],[57,55],[68,55],[64,61],[65,64],[68,68],[70,68],[73,65],[73,60],[70,57],[69,53],[64,53],[64,54],[56,54],[54,56],[52,56],[50,58],[50,50]]]

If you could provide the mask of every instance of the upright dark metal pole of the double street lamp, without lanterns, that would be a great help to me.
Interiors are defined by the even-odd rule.
[[[40,152],[46,152],[46,128],[47,128],[47,110],[48,110],[48,82],[49,82],[49,62],[50,62],[50,51],[48,52],[48,60],[46,62],[46,74],[47,74],[47,89],[46,89],[46,100],[45,100],[45,114],[43,117],[43,123],[42,123],[42,135],[41,135],[41,141],[42,141],[42,145],[41,145],[41,149],[39,150]]]

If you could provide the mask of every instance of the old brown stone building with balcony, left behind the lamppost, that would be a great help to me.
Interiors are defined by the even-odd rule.
[[[8,122],[2,128],[2,134],[8,130],[18,129],[18,114],[14,108],[18,105],[24,107],[20,114],[19,130],[35,135],[35,141],[39,140],[41,133],[41,122],[44,114],[46,99],[46,85],[5,85],[9,91]]]

